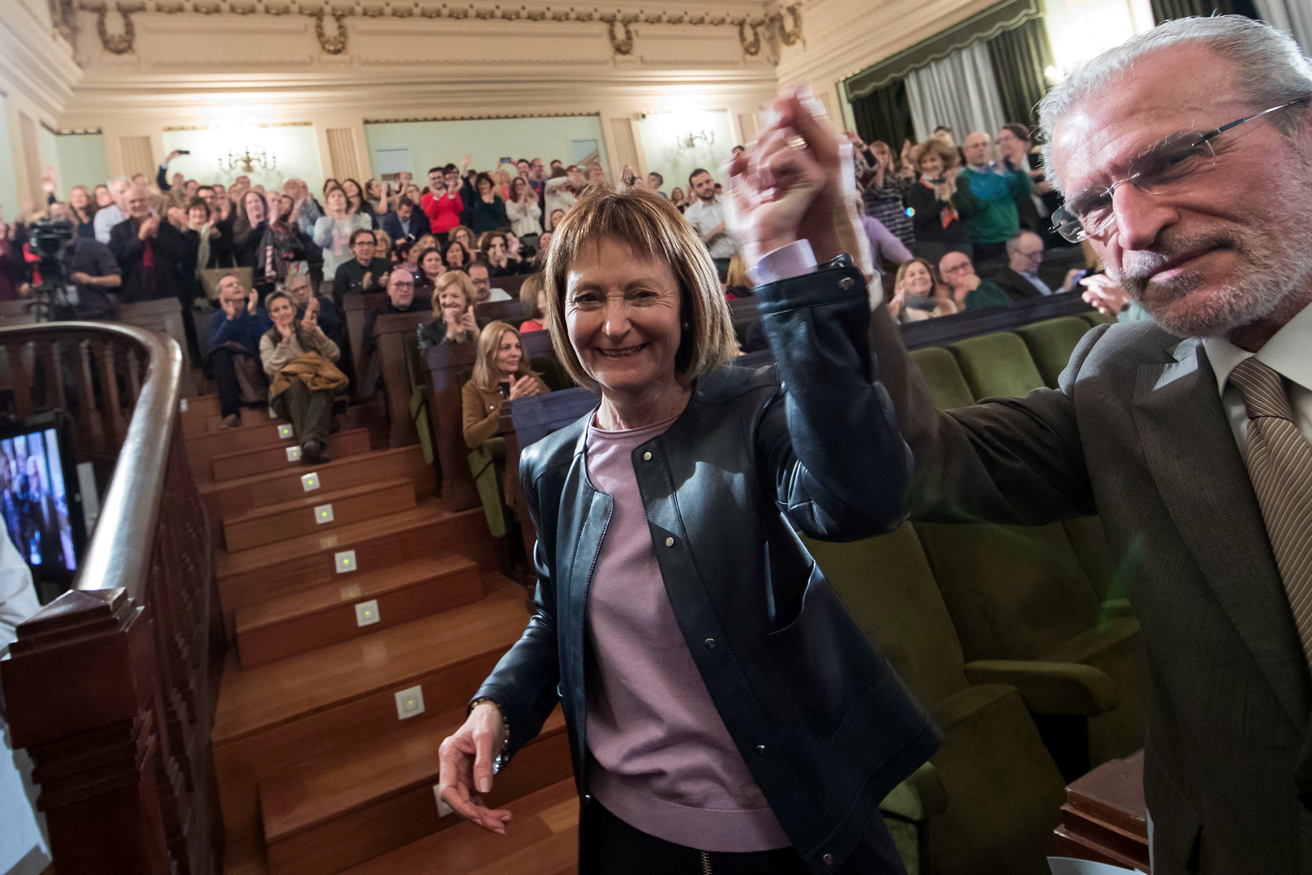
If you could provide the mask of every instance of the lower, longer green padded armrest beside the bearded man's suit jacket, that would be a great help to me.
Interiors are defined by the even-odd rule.
[[[1115,682],[1078,662],[976,660],[966,664],[971,683],[1008,683],[1034,714],[1097,716],[1120,704]]]

